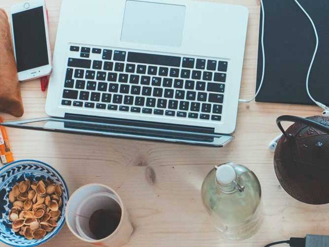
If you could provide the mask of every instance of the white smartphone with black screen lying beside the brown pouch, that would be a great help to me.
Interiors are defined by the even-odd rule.
[[[52,71],[48,16],[44,0],[30,0],[11,7],[11,35],[20,81],[49,75]]]

